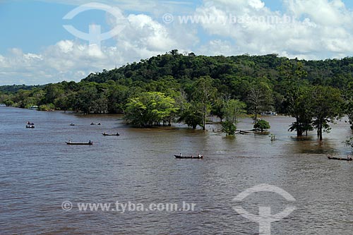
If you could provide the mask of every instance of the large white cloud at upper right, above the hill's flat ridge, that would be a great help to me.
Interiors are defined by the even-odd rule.
[[[209,34],[228,37],[224,54],[270,54],[323,59],[353,52],[352,12],[341,0],[285,0],[286,11],[271,11],[261,0],[204,1],[196,16]],[[213,19],[213,20],[209,20]],[[227,19],[227,21],[225,21]],[[209,22],[210,21],[210,22]],[[213,45],[210,41],[212,54]],[[233,47],[230,47],[232,44]]]

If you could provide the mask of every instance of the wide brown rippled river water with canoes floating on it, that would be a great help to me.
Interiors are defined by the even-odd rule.
[[[207,132],[182,125],[138,129],[125,126],[121,116],[0,107],[1,234],[258,234],[258,224],[234,212],[232,199],[261,183],[296,198],[297,210],[271,224],[273,234],[352,234],[353,165],[326,158],[349,153],[342,143],[352,135],[349,125],[338,122],[320,142],[315,132],[303,138],[287,132],[290,118],[265,119],[273,142],[268,134],[229,138],[218,125]],[[35,129],[26,129],[27,121]],[[238,128],[251,129],[251,120]],[[102,135],[116,131],[121,135]],[[205,158],[174,159],[179,152]],[[193,212],[64,212],[66,200],[197,206]],[[253,214],[270,206],[275,214],[287,202],[256,193],[238,205]]]

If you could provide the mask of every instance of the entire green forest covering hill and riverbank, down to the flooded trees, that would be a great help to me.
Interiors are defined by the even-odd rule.
[[[177,49],[91,73],[79,83],[0,87],[0,103],[40,110],[125,114],[136,126],[184,122],[205,128],[220,117],[234,133],[242,114],[275,111],[293,116],[291,131],[318,135],[343,115],[353,125],[353,58],[305,61],[277,54],[196,56]],[[260,126],[261,127],[261,126]]]

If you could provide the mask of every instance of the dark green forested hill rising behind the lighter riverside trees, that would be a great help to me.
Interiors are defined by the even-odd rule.
[[[91,73],[83,81],[105,83],[108,80],[131,84],[133,82],[148,83],[172,76],[178,83],[187,83],[201,76],[210,76],[215,83],[232,88],[232,83],[239,80],[268,78],[275,85],[282,76],[280,66],[286,61],[292,64],[300,62],[307,72],[306,80],[312,85],[329,85],[336,88],[347,88],[353,75],[353,58],[326,59],[325,61],[305,61],[278,57],[277,54],[265,56],[196,56],[179,54],[172,50],[167,54],[153,56],[138,63],[127,64],[112,71]],[[230,87],[229,87],[230,85]],[[280,91],[278,91],[280,92]]]

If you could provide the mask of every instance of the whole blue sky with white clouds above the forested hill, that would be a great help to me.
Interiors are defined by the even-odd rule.
[[[0,0],[0,85],[75,80],[157,54],[353,55],[350,0]]]

